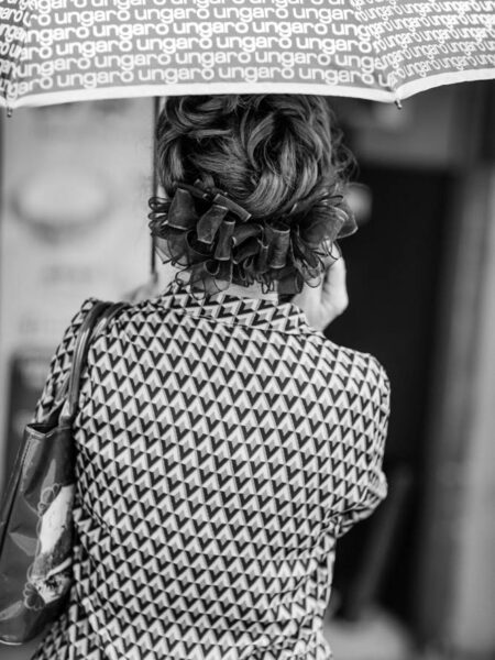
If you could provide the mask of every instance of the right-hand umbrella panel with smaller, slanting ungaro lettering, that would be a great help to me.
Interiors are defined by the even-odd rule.
[[[439,85],[495,77],[495,2],[356,0],[385,84],[397,98]],[[388,7],[384,7],[388,4]],[[376,13],[383,22],[374,24]]]

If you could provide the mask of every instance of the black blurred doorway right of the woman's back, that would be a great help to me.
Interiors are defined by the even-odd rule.
[[[340,541],[334,587],[341,596],[340,613],[352,616],[361,605],[349,602],[356,593],[353,581],[364,574],[375,592],[367,596],[410,620],[428,384],[452,175],[374,166],[362,168],[360,182],[372,190],[372,217],[341,244],[350,306],[327,334],[374,354],[388,373],[392,415],[385,471],[393,504]],[[382,548],[376,543],[377,526],[387,528],[388,541],[385,535]],[[366,557],[367,548],[373,559]]]

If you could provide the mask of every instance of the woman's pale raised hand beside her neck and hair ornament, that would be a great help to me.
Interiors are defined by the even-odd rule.
[[[326,271],[319,286],[310,287],[305,284],[301,293],[297,294],[292,302],[302,309],[311,328],[324,330],[349,305],[343,257]]]

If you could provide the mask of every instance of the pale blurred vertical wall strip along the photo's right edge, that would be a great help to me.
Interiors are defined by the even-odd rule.
[[[455,649],[476,650],[487,658],[495,650],[495,168],[477,172],[471,193],[485,184],[488,218],[482,261],[480,322],[471,388],[472,416],[466,440],[463,485],[465,499],[459,530],[459,574],[450,636]],[[482,197],[483,199],[483,197]]]

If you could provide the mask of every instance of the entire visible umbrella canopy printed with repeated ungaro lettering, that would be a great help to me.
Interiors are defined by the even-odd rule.
[[[9,108],[268,91],[397,101],[493,77],[494,0],[0,0]]]

